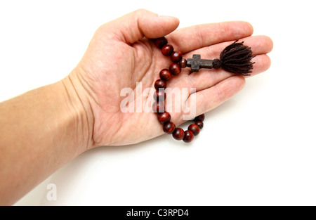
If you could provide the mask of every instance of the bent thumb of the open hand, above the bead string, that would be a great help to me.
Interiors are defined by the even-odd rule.
[[[173,32],[179,25],[178,18],[161,16],[145,9],[138,9],[127,15],[106,23],[107,34],[114,34],[126,44],[147,38],[163,37]]]

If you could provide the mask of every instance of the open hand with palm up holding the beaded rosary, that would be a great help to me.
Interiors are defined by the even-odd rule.
[[[86,109],[92,128],[87,148],[100,145],[127,145],[163,134],[157,115],[152,112],[121,112],[121,89],[134,91],[136,82],[143,89],[154,87],[160,70],[171,61],[150,39],[166,36],[184,58],[199,53],[202,58],[218,58],[220,51],[236,39],[250,46],[254,58],[251,75],[268,70],[272,41],[265,36],[250,37],[247,22],[221,22],[176,30],[178,19],[138,10],[99,27],[84,57],[68,76]],[[173,30],[176,30],[173,32]],[[146,37],[146,38],[144,38]],[[189,75],[189,68],[168,82],[172,88],[196,88],[197,112],[207,112],[234,96],[245,84],[244,77],[224,70],[200,70]],[[84,98],[82,96],[85,96]],[[143,97],[143,104],[152,96]],[[190,101],[190,96],[185,101]],[[88,109],[88,111],[87,111]],[[171,112],[171,121],[183,123],[183,112]]]

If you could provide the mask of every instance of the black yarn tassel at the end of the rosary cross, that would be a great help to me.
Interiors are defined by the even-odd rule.
[[[254,62],[251,62],[251,59],[254,57],[251,48],[244,45],[244,41],[241,43],[235,41],[220,53],[220,60],[213,60],[213,68],[222,67],[223,70],[228,72],[250,76],[250,70],[254,68]]]

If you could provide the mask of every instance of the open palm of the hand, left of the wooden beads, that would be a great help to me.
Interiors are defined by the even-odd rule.
[[[136,83],[142,84],[143,91],[152,88],[159,79],[159,71],[168,67],[169,58],[164,57],[148,39],[132,46],[124,42],[95,43],[98,45],[96,51],[88,51],[91,53],[88,60],[81,60],[78,66],[84,70],[80,71],[81,77],[88,82],[88,90],[91,90],[95,144],[137,143],[163,134],[162,125],[154,113],[144,112],[144,109],[142,112],[121,112],[121,101],[126,94],[121,96],[120,93],[124,88],[133,89],[135,102],[129,104],[136,105]],[[100,47],[103,49],[98,49]],[[172,86],[188,87],[185,80]],[[143,96],[143,106],[151,102],[152,93]],[[173,122],[179,122],[180,115],[172,114]]]

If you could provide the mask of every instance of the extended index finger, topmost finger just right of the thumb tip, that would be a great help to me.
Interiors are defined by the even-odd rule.
[[[181,28],[166,38],[176,50],[187,53],[204,46],[249,37],[253,32],[249,22],[230,21]]]

